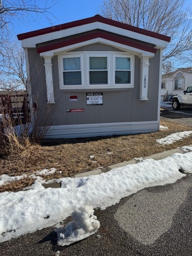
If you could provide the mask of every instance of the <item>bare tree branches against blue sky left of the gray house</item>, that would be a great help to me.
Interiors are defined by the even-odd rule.
[[[50,4],[49,4],[50,3]],[[36,21],[40,15],[45,16],[51,24],[56,18],[49,12],[57,3],[36,0],[2,0],[0,5],[0,90],[18,90],[27,88],[24,51],[18,41],[12,42],[12,29],[15,22],[24,22],[24,18]],[[41,7],[42,6],[42,7]],[[34,15],[36,14],[36,15]],[[50,18],[51,17],[51,18]],[[26,20],[26,19],[25,19]]]

